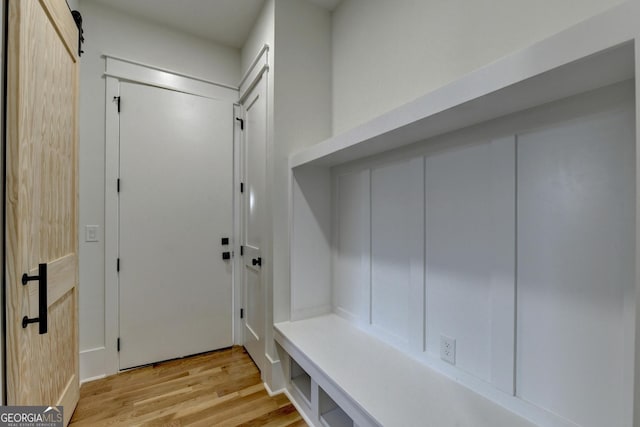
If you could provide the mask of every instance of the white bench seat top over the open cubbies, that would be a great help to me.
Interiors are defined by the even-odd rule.
[[[278,323],[275,339],[357,425],[533,425],[335,314]]]

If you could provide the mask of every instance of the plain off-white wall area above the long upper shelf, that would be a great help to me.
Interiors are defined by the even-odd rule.
[[[344,0],[333,13],[333,133],[622,0]]]

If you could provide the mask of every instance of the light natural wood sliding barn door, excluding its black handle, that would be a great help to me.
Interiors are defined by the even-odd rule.
[[[8,18],[7,399],[64,404],[68,422],[79,396],[78,33],[64,0],[11,1]],[[38,312],[38,284],[20,278],[43,262],[53,264],[39,335],[21,325]]]

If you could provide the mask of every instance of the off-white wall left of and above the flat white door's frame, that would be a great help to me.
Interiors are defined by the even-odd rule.
[[[105,345],[104,173],[105,61],[107,53],[235,86],[240,52],[87,0],[80,76],[80,369],[86,379],[103,374]],[[84,242],[84,227],[100,226],[99,242]],[[115,284],[108,284],[114,286]]]

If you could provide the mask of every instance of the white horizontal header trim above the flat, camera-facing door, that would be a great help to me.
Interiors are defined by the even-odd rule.
[[[114,77],[118,80],[144,83],[163,89],[232,102],[235,102],[238,98],[238,88],[233,86],[142,64],[130,59],[116,58],[109,55],[103,55],[103,57],[105,58],[105,77]]]

